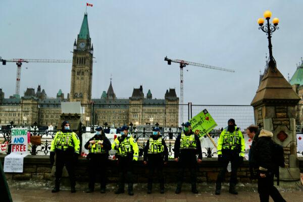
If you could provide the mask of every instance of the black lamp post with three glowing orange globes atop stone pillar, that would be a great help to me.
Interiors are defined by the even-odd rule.
[[[259,18],[258,19],[258,24],[259,24],[259,29],[261,29],[263,32],[266,33],[267,38],[268,38],[268,49],[269,49],[269,62],[268,62],[268,66],[270,68],[272,68],[272,72],[275,72],[275,68],[276,68],[276,61],[273,57],[273,51],[272,51],[272,43],[271,43],[271,35],[274,31],[276,31],[277,29],[279,29],[279,27],[277,26],[279,23],[279,19],[278,18],[274,18],[273,19],[273,25],[269,23],[269,19],[272,16],[272,13],[270,11],[265,11],[263,14],[264,18],[267,20],[267,24],[264,25],[264,19],[263,18]]]

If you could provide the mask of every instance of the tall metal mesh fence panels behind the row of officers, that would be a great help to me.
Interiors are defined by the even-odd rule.
[[[53,101],[52,101],[53,102]],[[174,154],[175,138],[182,131],[182,125],[199,112],[207,109],[218,126],[210,133],[213,137],[220,134],[221,129],[227,126],[230,118],[235,119],[236,124],[242,130],[254,123],[253,108],[248,105],[183,105],[183,117],[180,117],[180,105],[168,104],[128,104],[108,103],[81,105],[83,110],[82,128],[78,132],[80,136],[87,132],[87,126],[93,132],[96,125],[102,125],[106,129],[119,128],[126,124],[130,126],[132,135],[137,139],[140,155],[146,144],[151,129],[154,126],[161,128],[170,158]],[[31,136],[40,136],[41,145],[29,144],[29,152],[32,155],[48,155],[51,141],[57,130],[54,127],[49,130],[48,126],[57,126],[60,122],[61,104],[57,103],[2,103],[0,104],[0,142],[10,141],[12,127],[27,127]],[[85,127],[86,126],[86,127]],[[207,140],[209,138],[205,138]],[[215,157],[216,148],[208,141],[203,145],[204,157]],[[81,142],[82,143],[82,142]]]

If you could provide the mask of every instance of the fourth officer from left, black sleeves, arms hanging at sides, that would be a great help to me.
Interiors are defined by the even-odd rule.
[[[148,162],[147,162],[148,160]],[[164,193],[163,165],[168,162],[168,149],[165,140],[160,134],[160,129],[155,127],[144,147],[143,163],[148,166],[147,193],[151,193],[155,169],[158,172],[160,193]]]

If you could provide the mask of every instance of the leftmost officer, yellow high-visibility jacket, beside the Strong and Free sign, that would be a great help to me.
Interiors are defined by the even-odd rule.
[[[60,180],[64,165],[68,171],[71,184],[71,192],[76,192],[75,181],[75,163],[78,161],[80,140],[75,132],[70,129],[68,121],[62,122],[62,130],[58,131],[51,144],[51,154],[49,159],[53,165],[56,154],[56,181],[52,192],[60,191]]]

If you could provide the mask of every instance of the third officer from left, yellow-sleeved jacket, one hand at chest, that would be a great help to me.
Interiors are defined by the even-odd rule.
[[[128,178],[128,194],[133,195],[133,161],[138,161],[139,148],[135,139],[131,134],[128,134],[126,125],[121,127],[121,136],[116,138],[112,143],[112,149],[117,150],[116,157],[118,158],[119,170],[119,188],[115,191],[116,194],[124,193],[125,175]]]

